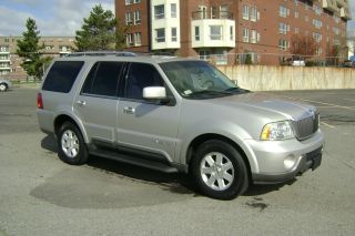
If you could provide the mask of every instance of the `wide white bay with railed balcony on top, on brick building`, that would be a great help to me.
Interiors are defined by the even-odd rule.
[[[192,12],[192,48],[235,48],[235,21],[226,11]]]

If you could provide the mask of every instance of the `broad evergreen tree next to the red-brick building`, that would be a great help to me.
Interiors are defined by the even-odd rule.
[[[122,49],[125,42],[124,29],[118,28],[118,20],[110,10],[95,6],[89,18],[83,19],[81,30],[77,31],[78,51],[101,51]]]

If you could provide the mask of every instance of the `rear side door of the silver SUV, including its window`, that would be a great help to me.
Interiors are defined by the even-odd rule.
[[[97,62],[74,102],[74,111],[89,138],[99,145],[114,146],[116,142],[118,90],[123,65],[122,62]]]

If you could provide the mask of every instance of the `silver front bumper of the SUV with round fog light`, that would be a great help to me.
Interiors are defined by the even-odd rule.
[[[252,171],[255,184],[282,183],[321,165],[324,136],[317,131],[305,141],[248,141],[256,168]]]

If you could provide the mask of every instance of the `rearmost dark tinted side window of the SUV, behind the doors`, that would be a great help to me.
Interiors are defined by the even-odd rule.
[[[51,66],[45,81],[43,83],[43,90],[68,93],[82,65],[82,61],[57,61]]]

